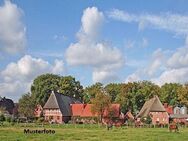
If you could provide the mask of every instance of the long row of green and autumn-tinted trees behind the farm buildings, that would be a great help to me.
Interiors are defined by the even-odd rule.
[[[19,111],[25,116],[29,110],[34,110],[36,104],[44,106],[50,96],[51,91],[80,99],[84,103],[94,104],[93,111],[102,113],[104,106],[110,103],[119,103],[122,112],[131,110],[134,114],[142,108],[146,100],[158,95],[163,103],[169,105],[188,106],[188,85],[179,83],[164,84],[159,87],[150,81],[140,81],[133,83],[110,83],[103,85],[95,83],[85,89],[72,76],[59,76],[54,74],[44,74],[38,76],[31,86],[31,94],[25,94],[19,100]],[[102,106],[101,106],[102,105]],[[29,107],[24,108],[24,107]]]

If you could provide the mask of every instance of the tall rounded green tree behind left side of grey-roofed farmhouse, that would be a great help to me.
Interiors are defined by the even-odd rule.
[[[58,91],[60,79],[60,76],[54,74],[43,74],[34,79],[31,93],[36,104],[44,106],[51,91]]]

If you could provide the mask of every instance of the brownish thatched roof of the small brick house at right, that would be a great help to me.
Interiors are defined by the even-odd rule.
[[[146,117],[150,112],[166,112],[157,95],[144,103],[142,109],[136,117]]]

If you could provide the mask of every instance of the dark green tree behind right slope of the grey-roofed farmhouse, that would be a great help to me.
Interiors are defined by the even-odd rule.
[[[84,92],[83,86],[74,77],[61,77],[59,85],[60,93],[82,100]]]

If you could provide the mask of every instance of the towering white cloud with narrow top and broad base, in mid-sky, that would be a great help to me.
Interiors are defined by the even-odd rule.
[[[77,33],[78,42],[72,43],[65,54],[69,65],[91,67],[94,71],[92,77],[94,82],[106,82],[108,77],[114,75],[107,72],[115,71],[124,63],[122,54],[117,48],[98,41],[104,20],[103,13],[96,7],[84,10],[81,29]]]

